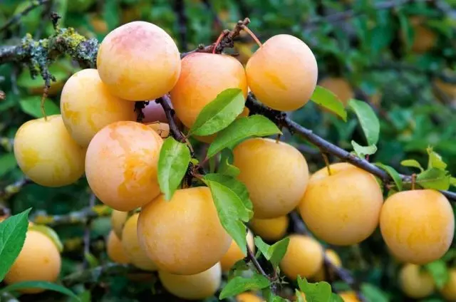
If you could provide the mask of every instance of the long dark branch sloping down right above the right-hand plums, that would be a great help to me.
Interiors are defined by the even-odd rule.
[[[322,137],[319,137],[314,132],[312,132],[312,130],[307,129],[306,127],[303,127],[298,123],[294,122],[293,120],[291,120],[290,118],[288,118],[284,113],[267,108],[265,105],[262,105],[261,103],[257,102],[252,93],[249,93],[249,95],[247,96],[246,107],[249,108],[251,114],[259,113],[261,115],[264,115],[266,118],[269,118],[269,120],[273,121],[277,125],[286,127],[291,132],[291,134],[296,133],[304,139],[306,139],[307,141],[311,142],[313,145],[318,147],[322,152],[334,155],[345,162],[349,162],[352,165],[355,165],[356,167],[359,167],[367,172],[370,172],[371,174],[382,179],[382,181],[385,183],[393,182],[393,179],[390,177],[390,175],[388,175],[388,172],[385,172],[384,170],[371,164],[367,160],[357,157],[356,155],[353,155],[350,152],[347,152],[346,150],[343,150],[342,148],[333,145],[331,142],[324,140]],[[409,175],[400,176],[405,182],[410,182]],[[455,192],[443,190],[441,190],[440,192],[442,192],[442,194],[444,194],[445,197],[447,197],[451,201],[456,202]]]

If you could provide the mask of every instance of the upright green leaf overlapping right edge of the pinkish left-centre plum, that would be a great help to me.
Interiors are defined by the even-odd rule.
[[[179,187],[191,159],[190,150],[184,143],[171,136],[163,142],[158,158],[158,184],[166,200],[170,200]]]

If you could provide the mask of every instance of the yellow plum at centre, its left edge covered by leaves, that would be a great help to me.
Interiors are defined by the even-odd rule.
[[[255,137],[233,150],[238,179],[250,194],[254,218],[276,218],[291,212],[309,181],[306,159],[286,142]]]

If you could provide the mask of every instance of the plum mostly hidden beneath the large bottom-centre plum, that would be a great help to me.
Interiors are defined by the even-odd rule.
[[[175,275],[167,271],[158,271],[162,286],[186,300],[202,300],[214,295],[222,283],[222,268],[219,263],[198,274]]]

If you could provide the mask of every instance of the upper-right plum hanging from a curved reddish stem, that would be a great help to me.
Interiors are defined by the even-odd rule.
[[[249,59],[245,71],[258,100],[282,111],[304,106],[318,78],[316,58],[309,46],[286,34],[269,38]]]

